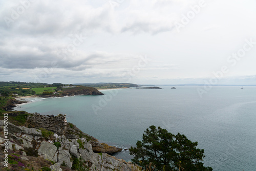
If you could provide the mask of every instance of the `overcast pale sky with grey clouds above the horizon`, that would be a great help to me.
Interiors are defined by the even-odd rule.
[[[0,80],[256,84],[255,0],[0,1]]]

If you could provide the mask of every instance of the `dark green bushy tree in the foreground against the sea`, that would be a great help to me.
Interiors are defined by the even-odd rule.
[[[156,170],[203,171],[212,170],[203,166],[204,150],[197,148],[197,142],[191,142],[185,135],[173,135],[161,127],[150,126],[143,134],[142,141],[130,148],[134,155],[132,162],[146,169]]]

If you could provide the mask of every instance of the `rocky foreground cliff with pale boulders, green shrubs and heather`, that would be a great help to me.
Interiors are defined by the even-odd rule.
[[[97,139],[82,133],[75,125],[68,123],[63,115],[47,117],[39,114],[12,114],[12,117],[26,118],[26,121],[23,126],[10,122],[8,125],[8,161],[12,161],[8,168],[11,170],[51,168],[61,171],[78,170],[81,167],[86,168],[84,170],[141,170],[137,165],[109,154],[94,153],[92,142],[97,142]],[[11,115],[9,118],[14,119]],[[38,129],[38,126],[42,127]],[[3,128],[4,121],[0,120],[0,129]],[[4,139],[1,133],[1,147],[6,145]],[[1,160],[3,155],[0,154]]]

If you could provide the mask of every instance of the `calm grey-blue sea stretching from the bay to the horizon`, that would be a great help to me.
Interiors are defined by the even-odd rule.
[[[105,90],[104,96],[34,98],[20,105],[30,113],[67,114],[67,120],[101,142],[135,146],[151,125],[184,134],[205,151],[214,170],[256,170],[256,87]],[[116,154],[131,160],[129,151]]]

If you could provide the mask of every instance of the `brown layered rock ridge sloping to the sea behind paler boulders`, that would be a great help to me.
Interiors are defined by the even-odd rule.
[[[29,115],[27,116],[26,126],[36,129],[44,128],[58,135],[65,135],[68,139],[86,138],[86,140],[92,144],[95,153],[113,154],[122,151],[121,148],[100,143],[96,138],[83,133],[74,124],[67,122],[66,115]]]

